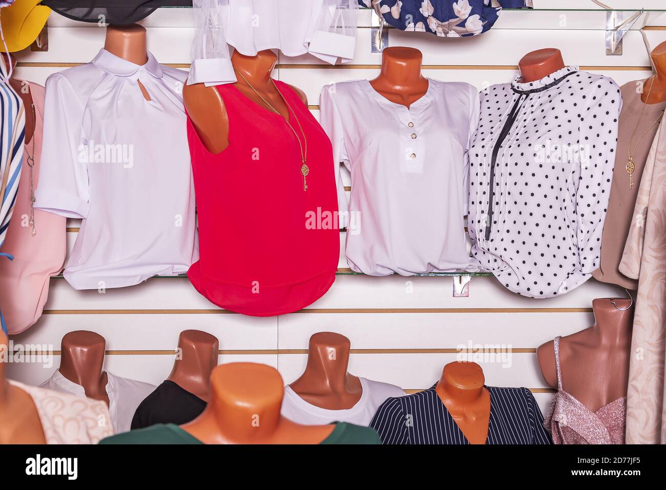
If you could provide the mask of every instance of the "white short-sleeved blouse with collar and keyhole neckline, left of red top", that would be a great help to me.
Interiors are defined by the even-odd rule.
[[[185,77],[150,53],[139,66],[101,49],[47,79],[35,208],[83,219],[64,273],[75,289],[176,275],[198,259]]]

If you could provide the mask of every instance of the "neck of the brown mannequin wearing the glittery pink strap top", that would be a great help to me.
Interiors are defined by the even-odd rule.
[[[624,346],[631,342],[631,323],[633,320],[633,307],[630,299],[595,299],[592,301],[595,323],[593,331],[599,336],[601,345]],[[622,308],[625,310],[621,310]]]

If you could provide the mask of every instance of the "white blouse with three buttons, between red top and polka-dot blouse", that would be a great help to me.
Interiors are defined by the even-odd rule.
[[[354,80],[326,85],[320,109],[334,161],[352,175],[341,220],[349,267],[377,276],[473,270],[464,215],[476,89],[428,79],[408,109]]]

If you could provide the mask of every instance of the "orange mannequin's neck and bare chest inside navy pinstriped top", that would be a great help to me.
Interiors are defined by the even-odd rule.
[[[442,403],[470,444],[486,444],[490,423],[490,393],[477,363],[456,361],[444,366],[435,387]]]

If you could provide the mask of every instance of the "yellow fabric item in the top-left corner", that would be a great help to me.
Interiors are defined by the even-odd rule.
[[[37,39],[51,13],[49,7],[38,5],[41,0],[16,0],[0,9],[0,23],[7,49],[0,40],[0,52],[21,51]]]

